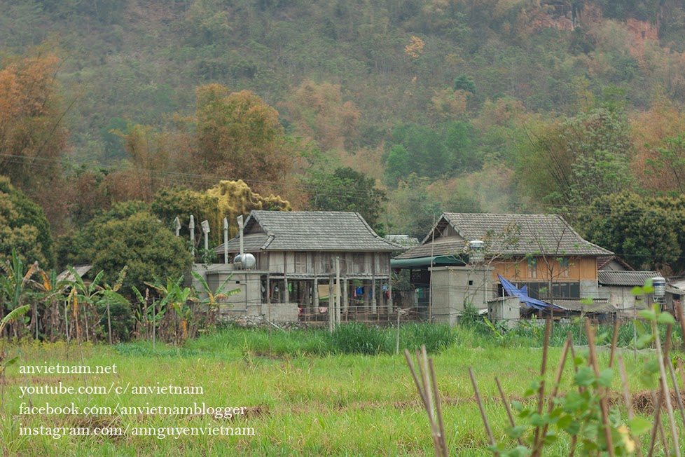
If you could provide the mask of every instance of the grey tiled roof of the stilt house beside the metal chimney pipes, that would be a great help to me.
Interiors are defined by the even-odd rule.
[[[375,251],[406,248],[378,236],[357,212],[253,211],[245,221],[245,251]],[[229,252],[240,240],[228,242]],[[223,252],[223,245],[215,252]]]

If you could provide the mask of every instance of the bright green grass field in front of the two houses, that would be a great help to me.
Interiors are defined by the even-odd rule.
[[[632,327],[631,327],[632,328]],[[568,329],[554,330],[553,342]],[[576,327],[577,330],[577,327]],[[27,341],[4,348],[8,358],[20,355],[7,369],[0,416],[0,443],[4,456],[212,456],[212,455],[331,455],[394,456],[434,455],[427,414],[420,404],[403,355],[394,355],[395,334],[375,329],[279,332],[274,329],[223,329],[186,342],[183,348],[151,342],[90,346],[74,343]],[[632,330],[631,330],[632,332]],[[559,334],[559,335],[558,335]],[[506,341],[487,333],[455,327],[406,326],[401,347],[430,343],[443,399],[445,433],[451,455],[490,456],[487,435],[469,380],[468,367],[478,379],[485,410],[499,440],[506,440],[506,412],[499,401],[494,377],[498,376],[510,399],[522,400],[527,386],[539,374],[542,350],[538,335]],[[582,351],[583,348],[579,348]],[[366,353],[365,353],[366,352]],[[550,349],[548,377],[558,364],[560,348]],[[646,386],[639,381],[629,348],[621,350],[630,373],[633,393]],[[82,358],[83,357],[83,358]],[[600,351],[606,366],[608,350]],[[22,374],[21,366],[44,362],[64,365],[116,364],[116,374]],[[565,380],[572,378],[568,366]],[[26,386],[111,386],[104,395],[22,395]],[[202,394],[134,395],[131,386],[195,386]],[[568,386],[568,382],[566,383]],[[618,376],[614,389],[618,390]],[[116,413],[97,416],[22,415],[20,407],[70,405],[109,407]],[[121,414],[120,407],[242,407],[244,414],[216,418],[209,414]],[[622,409],[621,409],[622,411]],[[126,411],[129,412],[129,411]],[[623,411],[625,412],[625,411]],[[22,435],[20,427],[114,427],[126,435],[62,436]],[[682,424],[679,423],[682,430]],[[233,436],[133,435],[135,428],[230,428]],[[567,455],[568,442],[560,440],[546,455]]]

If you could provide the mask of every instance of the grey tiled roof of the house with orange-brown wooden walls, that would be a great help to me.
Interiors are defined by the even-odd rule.
[[[456,236],[432,233],[422,245],[404,252],[398,259],[455,254],[462,252],[464,240],[483,240],[485,255],[554,254],[566,256],[607,256],[613,252],[584,240],[562,217],[548,214],[481,214],[445,212],[436,224],[438,230],[451,226]]]

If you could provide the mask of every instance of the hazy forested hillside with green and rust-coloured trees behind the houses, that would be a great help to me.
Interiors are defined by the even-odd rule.
[[[169,192],[209,213],[243,179],[413,236],[560,210],[637,268],[685,266],[681,1],[0,6],[0,175],[64,240],[117,202],[170,218]],[[662,212],[670,244],[645,247]]]

